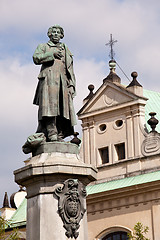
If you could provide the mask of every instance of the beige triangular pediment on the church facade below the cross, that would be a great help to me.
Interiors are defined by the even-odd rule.
[[[123,103],[128,103],[134,101],[138,96],[129,92],[122,85],[114,83],[103,84],[95,93],[95,95],[90,99],[79,111],[79,114],[89,113],[97,111],[104,108],[109,108],[117,106]]]

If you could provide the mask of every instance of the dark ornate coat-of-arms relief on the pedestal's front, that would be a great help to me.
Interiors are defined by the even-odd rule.
[[[63,221],[63,226],[67,230],[68,238],[77,238],[80,227],[80,220],[83,218],[85,209],[86,190],[77,179],[68,179],[63,187],[55,190],[58,197],[58,213]]]

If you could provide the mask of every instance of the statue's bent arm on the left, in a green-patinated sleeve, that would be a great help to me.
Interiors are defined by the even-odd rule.
[[[53,52],[46,50],[45,44],[39,44],[33,54],[33,61],[35,64],[42,64],[54,60]]]

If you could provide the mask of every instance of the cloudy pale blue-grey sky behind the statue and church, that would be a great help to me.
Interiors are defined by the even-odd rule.
[[[76,112],[109,73],[110,34],[118,40],[115,59],[130,78],[138,72],[145,89],[160,91],[159,0],[0,0],[0,207],[4,192],[17,191],[13,171],[29,156],[21,147],[37,127],[32,104],[40,66],[32,62],[39,43],[48,41],[47,30],[60,24],[74,55],[77,80]],[[117,67],[123,84],[127,78]],[[76,127],[81,131],[80,124]]]

